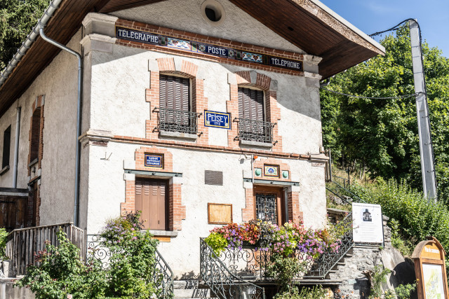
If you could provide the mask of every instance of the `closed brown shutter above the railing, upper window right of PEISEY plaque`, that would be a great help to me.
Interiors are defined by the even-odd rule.
[[[239,117],[264,121],[264,92],[239,88]]]

